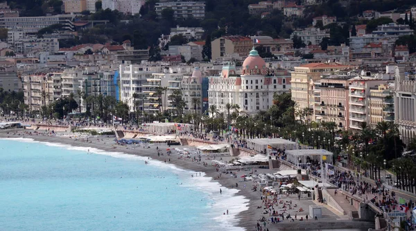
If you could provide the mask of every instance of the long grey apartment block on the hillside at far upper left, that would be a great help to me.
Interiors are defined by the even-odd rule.
[[[37,33],[53,24],[62,24],[64,30],[75,31],[74,15],[53,15],[40,17],[0,17],[0,28],[22,29],[25,33]]]

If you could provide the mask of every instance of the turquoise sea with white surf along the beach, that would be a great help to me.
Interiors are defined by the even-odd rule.
[[[0,230],[244,230],[236,216],[249,200],[236,189],[145,160],[0,139]]]

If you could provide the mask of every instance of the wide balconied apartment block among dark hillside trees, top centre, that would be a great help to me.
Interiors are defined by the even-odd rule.
[[[162,17],[162,10],[171,8],[175,10],[175,19],[204,19],[205,2],[204,1],[171,1],[156,3],[155,9],[157,17]]]

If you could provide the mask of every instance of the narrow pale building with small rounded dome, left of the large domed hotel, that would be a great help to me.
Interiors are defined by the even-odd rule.
[[[182,99],[185,102],[185,111],[195,113],[202,112],[202,73],[199,67],[195,67],[192,76],[184,76],[181,83]],[[199,99],[199,104],[195,105],[193,99]]]

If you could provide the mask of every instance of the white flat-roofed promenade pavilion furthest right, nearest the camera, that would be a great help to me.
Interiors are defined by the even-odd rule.
[[[330,151],[324,149],[299,149],[286,151],[287,161],[299,166],[300,164],[307,164],[306,157],[312,160],[320,161],[321,158],[324,162],[332,164],[332,155]]]

